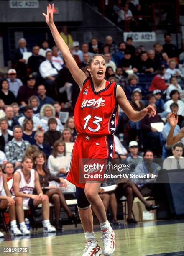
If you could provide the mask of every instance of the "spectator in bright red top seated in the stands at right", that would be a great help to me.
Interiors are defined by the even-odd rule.
[[[153,80],[151,81],[151,85],[149,87],[149,91],[154,90],[165,90],[169,86],[168,83],[165,81],[165,75],[166,68],[160,67],[157,71],[157,75],[153,77]]]

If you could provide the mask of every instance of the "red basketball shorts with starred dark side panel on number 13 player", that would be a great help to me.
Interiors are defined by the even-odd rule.
[[[69,172],[66,179],[77,187],[85,188],[84,174],[85,171],[84,163],[89,165],[94,164],[96,159],[107,160],[108,163],[112,162],[114,153],[114,136],[106,135],[101,137],[90,137],[87,135],[77,134],[73,151],[72,160],[69,168]],[[93,159],[95,159],[93,161]],[[84,161],[83,161],[84,160]],[[87,161],[87,162],[86,162]],[[89,166],[90,167],[90,166]],[[104,170],[103,170],[104,172]],[[102,174],[98,170],[89,171],[90,174]],[[87,179],[89,180],[89,179]],[[94,180],[94,179],[92,179]],[[102,179],[98,178],[98,181]]]

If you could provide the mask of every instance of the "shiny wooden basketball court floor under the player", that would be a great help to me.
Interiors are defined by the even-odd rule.
[[[148,221],[115,229],[116,250],[114,256],[184,256],[184,220]],[[95,234],[102,246],[100,230]],[[0,247],[28,247],[29,253],[0,253],[0,255],[29,256],[82,256],[84,233],[81,224],[64,226],[57,234],[43,234],[39,230],[31,237],[6,236],[0,238]]]

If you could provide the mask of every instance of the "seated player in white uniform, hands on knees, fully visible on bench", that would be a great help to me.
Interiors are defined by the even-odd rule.
[[[30,234],[24,222],[23,206],[29,207],[31,212],[33,212],[39,204],[42,204],[43,229],[45,232],[55,232],[56,229],[49,221],[49,198],[43,195],[38,172],[32,168],[33,160],[26,156],[22,159],[21,168],[13,174],[13,189],[20,230],[24,235]],[[33,195],[34,189],[36,189],[36,195]]]

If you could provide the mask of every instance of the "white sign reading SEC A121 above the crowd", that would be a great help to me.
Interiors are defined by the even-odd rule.
[[[124,32],[124,41],[127,37],[131,37],[134,42],[154,42],[156,41],[155,32]]]

